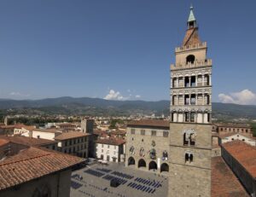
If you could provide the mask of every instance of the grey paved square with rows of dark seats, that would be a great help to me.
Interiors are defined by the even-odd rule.
[[[117,188],[110,186],[111,180],[119,183]],[[73,171],[71,197],[165,197],[168,178],[152,171],[140,171],[123,164],[90,165]]]

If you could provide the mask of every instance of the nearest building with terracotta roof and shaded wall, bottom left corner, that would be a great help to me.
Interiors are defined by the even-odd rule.
[[[1,197],[70,196],[72,169],[84,159],[45,148],[11,148],[11,156],[0,158]]]

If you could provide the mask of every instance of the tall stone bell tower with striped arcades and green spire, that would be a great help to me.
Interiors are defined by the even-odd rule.
[[[171,65],[171,197],[211,196],[212,60],[201,42],[193,7]]]

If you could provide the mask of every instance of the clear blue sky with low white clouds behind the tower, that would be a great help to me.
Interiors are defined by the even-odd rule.
[[[256,103],[254,0],[3,0],[0,97],[169,100],[190,3],[213,61],[212,100]]]

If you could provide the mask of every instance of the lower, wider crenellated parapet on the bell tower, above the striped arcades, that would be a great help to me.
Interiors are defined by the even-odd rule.
[[[171,64],[171,70],[183,70],[188,68],[197,68],[197,67],[211,67],[212,66],[212,59],[207,59],[205,61],[195,61],[193,64]]]

